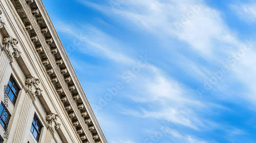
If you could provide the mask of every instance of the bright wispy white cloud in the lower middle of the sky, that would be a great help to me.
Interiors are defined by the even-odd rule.
[[[137,76],[137,80],[131,83],[134,84],[132,92],[137,93],[137,95],[129,95],[129,97],[134,102],[150,104],[153,108],[123,109],[122,113],[141,118],[166,120],[195,130],[200,130],[206,125],[215,126],[214,122],[200,117],[197,111],[199,109],[209,110],[214,105],[208,104],[206,106],[207,103],[195,100],[197,96],[189,93],[185,87],[181,87],[177,82],[167,78],[159,68],[149,65],[146,70],[152,71],[152,73],[143,74],[141,77]]]

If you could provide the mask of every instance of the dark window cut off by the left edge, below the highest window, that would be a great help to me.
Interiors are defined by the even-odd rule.
[[[0,124],[4,127],[7,128],[10,120],[10,113],[8,112],[7,108],[4,106],[3,103],[0,105]]]

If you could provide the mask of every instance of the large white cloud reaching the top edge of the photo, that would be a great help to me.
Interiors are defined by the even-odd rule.
[[[176,37],[190,45],[202,56],[212,58],[212,51],[219,51],[216,43],[237,47],[236,38],[220,17],[220,13],[203,1],[125,1],[114,8],[82,2],[108,16],[126,19],[138,27],[159,37]],[[196,10],[195,10],[196,9]],[[114,12],[113,12],[114,11]],[[194,13],[189,18],[190,13]],[[187,16],[188,15],[188,16]],[[187,19],[187,20],[183,20]],[[187,21],[187,22],[184,22]],[[175,23],[181,23],[177,30]],[[124,23],[125,24],[125,23]],[[126,23],[128,25],[129,23]]]

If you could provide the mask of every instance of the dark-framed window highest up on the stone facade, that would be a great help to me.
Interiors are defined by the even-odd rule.
[[[8,82],[7,93],[8,93],[8,97],[12,101],[13,105],[15,105],[15,102],[17,100],[18,91],[19,91],[18,85],[15,82],[15,80],[13,79],[13,77],[11,76],[10,80]]]

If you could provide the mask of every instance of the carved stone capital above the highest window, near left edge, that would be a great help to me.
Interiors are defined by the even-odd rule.
[[[10,57],[14,57],[15,59],[17,59],[21,53],[17,48],[17,44],[17,39],[12,38],[11,36],[5,37],[3,39],[3,45],[5,50],[8,52]]]

